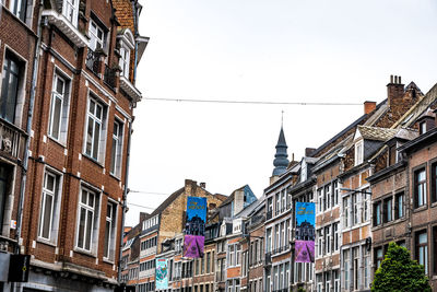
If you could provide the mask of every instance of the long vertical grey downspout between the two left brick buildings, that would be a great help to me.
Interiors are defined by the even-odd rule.
[[[32,131],[32,120],[35,105],[35,92],[36,92],[36,83],[38,80],[38,65],[39,65],[39,47],[40,47],[40,35],[42,35],[42,12],[43,12],[43,0],[39,1],[39,12],[38,12],[38,21],[36,25],[36,42],[35,42],[35,56],[33,61],[33,72],[32,72],[32,89],[31,89],[31,100],[27,112],[27,126],[26,126],[26,144],[24,148],[24,157],[22,164],[22,180],[20,187],[20,198],[19,198],[19,210],[16,215],[16,233],[15,240],[17,244],[15,245],[15,254],[21,253],[21,243],[20,237],[22,233],[23,226],[23,208],[24,208],[24,195],[26,190],[26,178],[27,178],[27,165],[28,165],[28,149],[31,147],[31,131]]]

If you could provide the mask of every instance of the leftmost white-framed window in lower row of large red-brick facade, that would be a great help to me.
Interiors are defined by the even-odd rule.
[[[57,238],[57,223],[59,220],[59,182],[60,177],[58,175],[51,172],[45,172],[38,236],[52,242]]]

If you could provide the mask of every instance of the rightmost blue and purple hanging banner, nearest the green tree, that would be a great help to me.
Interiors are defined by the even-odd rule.
[[[316,205],[314,202],[296,202],[296,241],[295,261],[315,261],[316,241]]]

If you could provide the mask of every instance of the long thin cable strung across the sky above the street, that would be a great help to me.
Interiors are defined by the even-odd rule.
[[[233,100],[193,100],[193,98],[155,98],[144,97],[151,102],[186,102],[186,103],[215,103],[215,104],[255,104],[255,105],[363,105],[359,103],[321,103],[321,102],[265,102],[265,101],[233,101]]]

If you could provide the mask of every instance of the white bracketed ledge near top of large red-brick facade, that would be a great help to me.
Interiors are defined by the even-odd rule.
[[[44,10],[43,19],[47,17],[48,23],[58,27],[74,45],[83,48],[88,45],[90,40],[79,30],[66,19],[62,14],[55,10]]]

